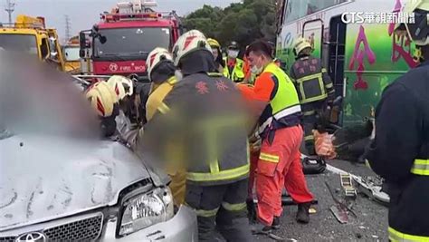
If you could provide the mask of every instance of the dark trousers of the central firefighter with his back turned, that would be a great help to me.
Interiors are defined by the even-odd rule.
[[[253,241],[246,207],[248,183],[249,179],[216,186],[186,184],[186,205],[196,210],[199,241],[216,241],[216,229],[227,241]]]

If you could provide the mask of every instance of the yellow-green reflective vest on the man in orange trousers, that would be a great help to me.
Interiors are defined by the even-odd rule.
[[[300,99],[291,79],[275,63],[267,65],[262,73],[272,73],[277,80],[277,92],[262,114],[259,133],[262,134],[269,127],[273,129],[283,128],[281,126],[276,127],[281,125],[282,120],[292,119],[294,121],[288,121],[292,125],[299,123]],[[294,119],[294,117],[297,118]]]

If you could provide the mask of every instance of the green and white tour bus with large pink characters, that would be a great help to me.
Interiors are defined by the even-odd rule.
[[[280,0],[276,57],[289,73],[292,44],[299,36],[308,38],[343,97],[338,125],[361,124],[374,116],[386,86],[418,64],[415,45],[393,32],[396,22],[404,23],[406,1]]]

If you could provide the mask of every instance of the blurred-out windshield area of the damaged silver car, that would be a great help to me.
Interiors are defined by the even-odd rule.
[[[30,133],[98,137],[97,117],[70,75],[26,53],[0,51],[0,63],[1,140]]]

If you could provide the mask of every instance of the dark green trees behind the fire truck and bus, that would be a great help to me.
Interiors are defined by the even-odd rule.
[[[215,38],[222,48],[236,41],[242,51],[256,39],[275,42],[276,0],[242,0],[225,8],[204,5],[184,16],[187,30]]]

